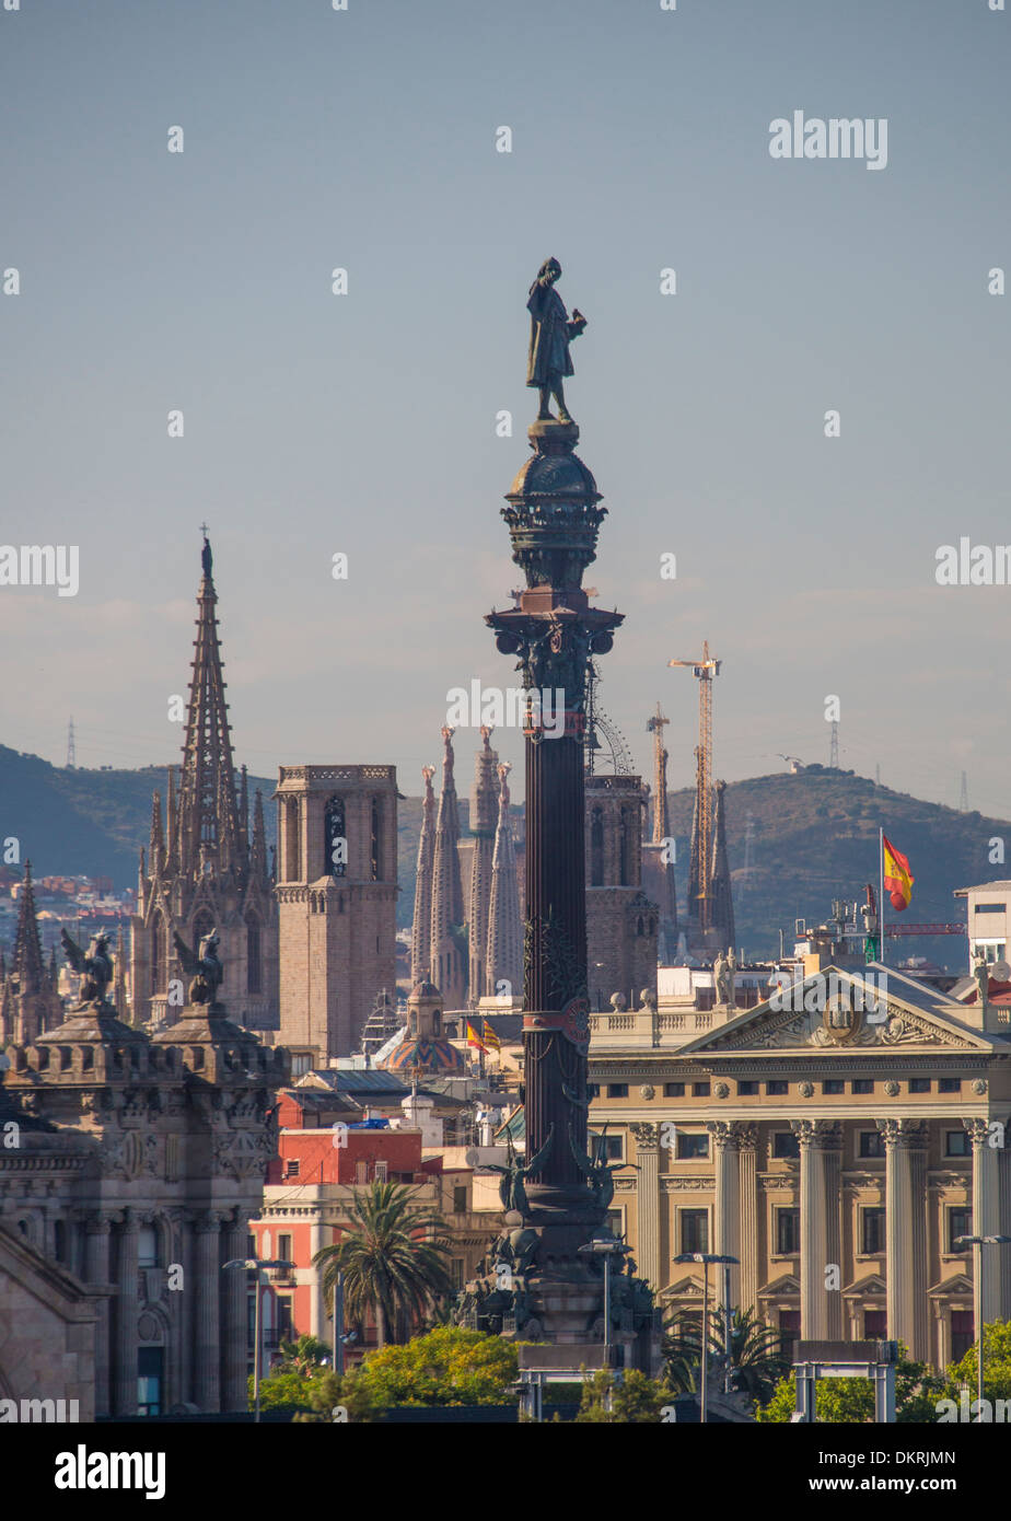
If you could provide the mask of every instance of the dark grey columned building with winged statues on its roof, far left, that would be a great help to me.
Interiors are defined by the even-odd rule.
[[[223,1264],[248,1256],[287,1053],[202,1004],[149,1036],[93,999],[6,1056],[0,1256],[52,1272],[0,1335],[0,1390],[35,1367],[30,1395],[62,1398],[61,1337],[88,1419],[245,1410],[248,1275]]]

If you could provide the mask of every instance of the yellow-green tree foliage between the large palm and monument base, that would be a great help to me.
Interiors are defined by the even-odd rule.
[[[512,1342],[462,1326],[436,1326],[404,1346],[369,1352],[362,1383],[377,1405],[499,1405],[518,1377]]]

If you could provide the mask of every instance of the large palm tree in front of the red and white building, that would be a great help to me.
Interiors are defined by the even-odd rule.
[[[338,1273],[344,1273],[347,1316],[362,1323],[371,1310],[380,1346],[389,1338],[406,1340],[432,1302],[453,1293],[445,1223],[435,1211],[412,1203],[415,1192],[403,1183],[356,1188],[345,1235],[313,1258],[324,1264],[327,1310]]]

